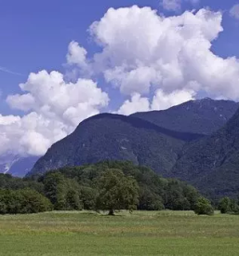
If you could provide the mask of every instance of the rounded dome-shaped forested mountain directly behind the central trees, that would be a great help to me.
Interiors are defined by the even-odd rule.
[[[160,128],[133,116],[96,115],[55,143],[29,175],[102,160],[130,160],[165,175],[176,163],[182,146],[199,138],[202,135]]]

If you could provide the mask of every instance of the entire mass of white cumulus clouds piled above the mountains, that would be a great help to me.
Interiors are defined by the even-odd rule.
[[[150,7],[110,8],[89,28],[100,47],[92,58],[77,42],[68,47],[75,81],[41,71],[29,75],[20,94],[7,97],[9,106],[25,115],[0,115],[0,154],[43,155],[80,121],[100,113],[111,97],[95,82],[99,75],[104,87],[126,97],[114,110],[124,115],[163,110],[202,92],[238,101],[239,61],[211,50],[221,22],[222,14],[208,9],[166,18]]]

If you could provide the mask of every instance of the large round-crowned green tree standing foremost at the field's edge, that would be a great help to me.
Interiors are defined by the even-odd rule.
[[[115,210],[137,209],[139,203],[139,185],[132,177],[127,177],[120,169],[107,169],[99,180],[97,209]]]

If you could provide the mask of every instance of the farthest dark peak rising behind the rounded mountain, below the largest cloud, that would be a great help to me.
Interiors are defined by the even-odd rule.
[[[239,103],[206,98],[187,101],[164,111],[136,113],[131,116],[162,127],[209,135],[221,128],[236,112]]]

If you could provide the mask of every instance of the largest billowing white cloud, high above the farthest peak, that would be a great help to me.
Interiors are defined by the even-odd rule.
[[[208,9],[160,17],[150,7],[109,9],[90,33],[102,47],[94,68],[126,95],[162,89],[239,99],[239,61],[211,51],[222,15]]]

